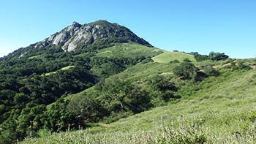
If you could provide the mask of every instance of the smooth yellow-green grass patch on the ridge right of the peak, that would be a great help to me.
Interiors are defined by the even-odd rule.
[[[194,56],[189,55],[187,53],[168,52],[168,51],[164,51],[164,53],[159,54],[158,56],[155,56],[152,59],[154,60],[154,62],[169,63],[170,61],[173,61],[175,59],[178,59],[178,61],[183,61],[184,58],[189,58],[190,61],[196,62]]]

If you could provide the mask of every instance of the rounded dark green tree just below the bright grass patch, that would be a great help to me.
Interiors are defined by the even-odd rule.
[[[185,77],[187,79],[195,78],[197,76],[198,68],[190,62],[182,62],[173,68],[174,75],[178,77]]]

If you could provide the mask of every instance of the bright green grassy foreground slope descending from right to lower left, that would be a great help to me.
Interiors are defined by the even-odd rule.
[[[192,99],[184,96],[176,104],[108,126],[67,129],[23,143],[256,143],[256,71],[224,73],[206,82],[210,80],[212,86],[205,83],[208,88]]]

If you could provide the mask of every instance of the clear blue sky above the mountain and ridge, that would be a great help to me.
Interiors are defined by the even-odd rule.
[[[0,56],[99,19],[162,50],[256,57],[255,0],[1,0]]]

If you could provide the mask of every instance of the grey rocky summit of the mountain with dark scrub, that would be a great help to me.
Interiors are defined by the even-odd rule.
[[[111,37],[123,37],[131,42],[150,45],[124,26],[120,26],[117,23],[109,23],[107,20],[97,20],[94,23],[85,23],[83,25],[74,21],[60,32],[50,35],[50,37],[41,42],[37,42],[34,48],[42,48],[53,44],[61,45],[62,50],[72,51],[79,49],[78,45],[91,45],[99,39]]]

